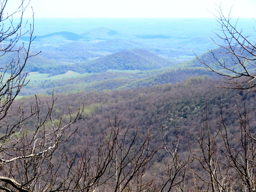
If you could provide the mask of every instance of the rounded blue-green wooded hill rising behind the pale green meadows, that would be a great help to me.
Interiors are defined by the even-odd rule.
[[[45,57],[45,54],[40,54],[38,57],[31,58],[28,65],[25,67],[27,72],[49,73],[49,76],[64,74],[69,70],[83,73],[102,73],[109,69],[117,70],[152,70],[173,65],[173,61],[164,59],[156,54],[143,49],[132,49],[127,51],[116,52],[110,55],[102,56],[102,54],[94,54],[88,52],[86,54],[82,48],[73,50],[72,53],[65,56],[59,55],[59,52],[51,53]],[[79,54],[83,54],[84,58],[101,56],[92,61],[82,62]],[[54,55],[54,57],[52,57]],[[13,53],[7,53],[0,58],[2,67],[7,63],[9,58],[12,58]],[[15,58],[15,57],[14,57]],[[65,59],[67,58],[67,59]],[[72,61],[75,60],[75,63]],[[80,61],[77,61],[80,60]]]

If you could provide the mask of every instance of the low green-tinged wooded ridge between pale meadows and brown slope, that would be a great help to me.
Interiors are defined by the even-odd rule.
[[[23,88],[25,95],[35,93],[51,94],[68,93],[74,91],[102,91],[123,90],[128,88],[147,87],[158,84],[175,84],[188,77],[199,76],[203,80],[216,78],[204,68],[162,68],[151,71],[108,71],[104,73],[86,74],[82,76],[53,80],[33,79]],[[29,77],[28,77],[29,78]]]

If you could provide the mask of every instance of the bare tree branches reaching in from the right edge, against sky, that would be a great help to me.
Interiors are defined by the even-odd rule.
[[[233,22],[231,10],[228,17],[225,17],[221,6],[218,6],[216,20],[219,24],[219,33],[216,36],[223,44],[216,41],[220,49],[210,50],[212,60],[210,62],[196,58],[203,63],[209,71],[215,72],[218,76],[225,77],[221,88],[237,89],[244,92],[255,91],[256,72],[256,44],[249,40],[250,36],[243,35],[243,30],[237,29],[237,22]],[[228,59],[220,59],[220,55],[228,56]],[[228,62],[231,60],[231,64]]]

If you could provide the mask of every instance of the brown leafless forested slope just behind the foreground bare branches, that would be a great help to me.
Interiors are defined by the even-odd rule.
[[[210,81],[211,84],[220,84],[220,82],[221,79]],[[67,106],[70,106],[71,113],[74,113],[77,108],[83,106],[83,103],[85,104],[83,116],[74,126],[78,128],[75,134],[76,140],[71,138],[68,144],[65,144],[68,154],[75,152],[74,142],[80,148],[89,145],[89,148],[94,150],[93,146],[97,146],[100,138],[110,134],[108,118],[111,123],[114,123],[116,116],[118,121],[121,120],[121,129],[129,127],[126,133],[127,138],[132,138],[136,127],[140,134],[150,129],[154,140],[151,143],[153,147],[163,146],[162,126],[164,126],[165,142],[170,146],[171,143],[176,142],[179,131],[179,158],[185,160],[191,156],[190,150],[196,147],[193,144],[195,142],[193,136],[196,136],[197,131],[204,126],[206,116],[208,126],[213,130],[217,130],[223,120],[229,137],[232,137],[240,131],[237,108],[243,114],[245,106],[251,130],[255,130],[254,111],[256,109],[253,105],[255,93],[218,89],[211,84],[206,83],[206,79],[198,77],[189,78],[177,84],[154,85],[122,91],[56,94],[57,101],[52,118],[55,124],[58,124],[61,116],[65,123],[68,120]],[[43,97],[42,100],[51,99],[45,95],[37,97]],[[17,100],[15,105],[29,106],[34,100],[32,96],[24,97],[22,100]],[[24,108],[24,111],[28,110]],[[139,140],[138,142],[140,143]],[[136,150],[136,146],[133,146],[133,149]],[[61,153],[61,150],[62,148],[58,153]],[[161,183],[159,178],[165,177],[164,162],[168,162],[168,159],[170,154],[161,149],[151,161],[149,173],[156,174],[156,184]],[[197,174],[204,174],[205,170],[201,170],[196,161],[194,163],[193,166],[198,166]],[[190,182],[190,179],[193,178],[188,177],[187,182]]]

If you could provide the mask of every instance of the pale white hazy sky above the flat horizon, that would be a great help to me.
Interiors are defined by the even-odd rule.
[[[35,17],[209,18],[220,3],[226,13],[233,5],[233,17],[256,18],[255,0],[31,0],[30,5]]]

